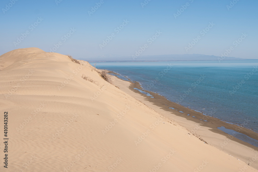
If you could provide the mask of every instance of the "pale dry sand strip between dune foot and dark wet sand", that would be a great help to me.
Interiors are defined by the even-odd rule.
[[[160,99],[160,98],[163,98],[162,96],[159,97],[155,93],[150,92],[150,94],[155,97],[153,99],[153,98],[150,98],[150,96],[147,96],[145,94],[139,94],[140,93],[139,91],[136,91],[135,89],[133,89],[133,87],[135,86],[137,87],[137,85],[132,84],[131,81],[125,81],[117,78],[116,76],[111,76],[111,79],[112,79],[112,83],[118,86],[122,91],[124,91],[125,93],[128,93],[135,99],[141,101],[148,107],[154,109],[156,112],[165,116],[166,118],[178,122],[181,126],[187,128],[190,131],[189,133],[193,133],[195,134],[195,136],[198,136],[199,138],[200,137],[203,138],[203,140],[205,140],[208,144],[214,146],[215,148],[246,162],[246,164],[252,166],[255,169],[258,169],[257,147],[251,144],[248,144],[246,142],[243,142],[241,140],[238,140],[237,138],[233,138],[233,136],[225,134],[224,132],[216,131],[214,129],[214,126],[218,125],[216,124],[216,120],[212,122],[212,121],[209,121],[209,119],[207,119],[210,123],[206,126],[203,126],[201,125],[203,124],[202,122],[196,122],[198,120],[192,121],[191,119],[189,120],[189,118],[186,118],[187,113],[182,115],[182,113],[178,111],[171,112],[171,110],[169,110],[168,108],[170,107],[171,104],[168,102],[165,102],[165,104],[168,104],[167,107],[166,106],[165,108],[162,108],[162,106],[160,107],[159,103],[161,102],[162,105],[164,103],[163,100]],[[179,106],[179,108],[182,108],[182,107]],[[177,109],[177,110],[185,111],[185,109],[183,110]],[[220,124],[221,123],[219,123],[219,125]],[[229,127],[225,124],[222,124],[222,125],[224,125],[226,128]],[[239,129],[238,126],[234,128]]]

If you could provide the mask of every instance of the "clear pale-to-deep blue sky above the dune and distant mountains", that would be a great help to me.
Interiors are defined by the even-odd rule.
[[[12,1],[15,3],[10,4]],[[227,5],[230,5],[230,0],[151,0],[143,7],[141,3],[144,3],[144,0],[103,0],[103,4],[91,16],[88,11],[100,0],[62,0],[58,5],[57,1],[2,0],[0,54],[27,47],[38,47],[49,52],[54,44],[61,42],[59,48],[54,48],[55,52],[71,54],[76,59],[105,54],[131,56],[144,44],[148,44],[148,47],[141,55],[221,56],[221,53],[226,52],[225,49],[232,46],[234,49],[228,56],[258,59],[257,0],[235,0],[237,3],[229,10]],[[181,9],[183,12],[175,19],[174,13],[186,3],[189,3],[189,6],[185,10]],[[11,7],[6,7],[6,4]],[[129,23],[117,33],[115,28],[124,20]],[[39,23],[36,23],[37,26],[34,25],[32,30],[30,25],[37,21]],[[215,25],[205,35],[200,34],[201,30],[208,27],[209,22]],[[69,33],[70,28],[76,31],[64,42],[63,36]],[[149,44],[147,40],[154,36],[157,30],[162,33]],[[28,35],[26,31],[29,31]],[[112,33],[115,37],[101,49],[99,45]],[[248,36],[235,47],[233,42],[241,38],[242,33]],[[22,37],[22,34],[26,37],[15,47],[14,42],[17,42],[17,37]],[[201,39],[186,52],[185,47],[198,35]]]

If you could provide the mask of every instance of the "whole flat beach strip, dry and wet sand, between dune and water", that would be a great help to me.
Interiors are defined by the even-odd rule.
[[[108,73],[113,73],[116,75],[118,74],[113,71],[108,71]],[[112,78],[115,79],[116,83],[119,83],[119,85],[116,85],[119,88],[123,83],[124,85],[127,85],[127,89],[123,88],[122,91],[125,92],[125,89],[126,89],[127,93],[128,91],[130,91],[131,93],[135,93],[134,95],[132,95],[131,93],[128,93],[134,98],[136,98],[135,96],[139,95],[137,96],[136,99],[146,104],[148,107],[154,109],[155,111],[160,111],[159,113],[162,114],[164,117],[174,120],[179,125],[188,129],[189,133],[191,133],[192,135],[195,135],[196,137],[206,142],[207,144],[210,144],[216,147],[217,149],[224,151],[225,153],[231,154],[232,156],[238,157],[241,160],[245,159],[244,161],[247,164],[248,164],[248,161],[252,159],[252,155],[248,157],[248,155],[246,155],[247,153],[245,153],[246,150],[242,152],[242,150],[240,151],[240,149],[243,149],[244,147],[244,149],[247,149],[249,153],[250,152],[257,153],[258,147],[234,137],[235,135],[233,136],[233,135],[227,134],[222,130],[218,129],[218,127],[225,127],[226,129],[234,130],[238,133],[251,137],[257,141],[258,133],[256,133],[255,131],[248,128],[244,128],[237,124],[227,123],[228,121],[225,122],[225,121],[222,121],[221,119],[208,116],[209,114],[204,115],[199,111],[189,109],[178,103],[171,102],[170,100],[167,100],[166,97],[162,95],[144,90],[138,81],[132,81],[130,78],[127,78],[128,80],[123,80],[117,76],[114,76],[114,75],[111,75],[111,76]],[[128,84],[125,84],[125,82],[127,82]],[[140,89],[141,91],[144,91],[152,95],[152,97],[154,98],[151,98],[151,96],[147,96],[146,94],[143,94],[134,88]],[[225,143],[225,140],[227,143]],[[258,163],[256,162],[256,164],[254,164],[253,167],[258,169]]]

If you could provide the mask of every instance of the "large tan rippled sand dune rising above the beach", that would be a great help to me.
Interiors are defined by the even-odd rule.
[[[9,128],[8,168],[0,144],[0,171],[257,171],[110,85],[87,62],[38,48],[0,61]]]

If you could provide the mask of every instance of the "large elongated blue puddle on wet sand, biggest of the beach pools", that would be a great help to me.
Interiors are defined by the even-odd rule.
[[[235,130],[227,129],[225,127],[218,127],[221,131],[238,138],[241,141],[247,142],[251,145],[258,147],[258,141],[242,133],[238,133]]]

